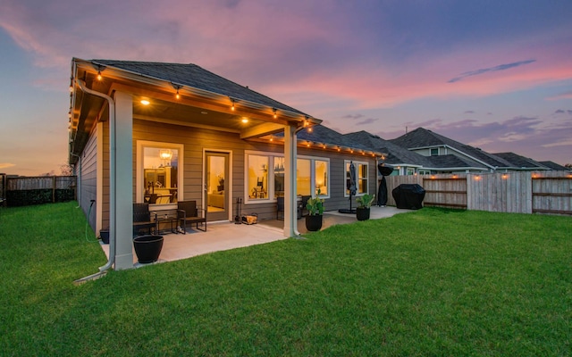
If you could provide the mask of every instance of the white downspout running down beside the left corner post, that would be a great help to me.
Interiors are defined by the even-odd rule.
[[[89,89],[86,87],[85,82],[80,79],[75,79],[75,82],[83,92],[104,98],[109,104],[109,259],[104,266],[99,267],[98,273],[76,280],[76,282],[83,282],[99,278],[105,274],[105,270],[111,269],[115,262],[115,101],[114,98],[109,95]]]

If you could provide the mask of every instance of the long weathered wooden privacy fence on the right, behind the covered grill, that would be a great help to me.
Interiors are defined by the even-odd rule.
[[[490,212],[572,215],[572,174],[563,171],[389,176],[391,190],[400,184],[425,188],[425,206]]]

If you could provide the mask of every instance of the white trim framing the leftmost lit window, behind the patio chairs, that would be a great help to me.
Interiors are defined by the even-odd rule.
[[[144,187],[142,184],[143,181],[143,148],[144,147],[156,147],[156,148],[165,148],[165,149],[176,149],[179,150],[179,157],[177,162],[177,201],[183,201],[183,186],[184,186],[184,145],[182,144],[173,144],[173,143],[164,143],[160,141],[147,141],[147,140],[137,140],[137,173],[136,173],[136,184],[135,184],[135,200],[137,203],[143,202],[143,191]],[[161,208],[162,210],[172,210],[177,208],[177,203],[170,203],[170,204],[151,204],[151,207]]]

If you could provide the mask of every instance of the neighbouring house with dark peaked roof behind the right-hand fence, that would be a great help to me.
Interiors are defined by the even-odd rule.
[[[452,169],[450,172],[550,170],[538,164],[538,162],[534,163],[530,159],[526,159],[525,166],[522,166],[524,163],[522,156],[512,153],[489,154],[480,148],[459,143],[449,137],[443,137],[423,128],[417,128],[390,141],[395,145],[407,148],[409,151],[430,158],[433,165],[450,166]],[[520,159],[517,159],[517,157]],[[453,168],[453,166],[458,167]]]

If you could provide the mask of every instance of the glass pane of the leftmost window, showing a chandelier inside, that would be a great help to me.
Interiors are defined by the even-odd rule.
[[[179,150],[160,147],[143,148],[145,202],[166,204],[177,202],[177,170]]]

